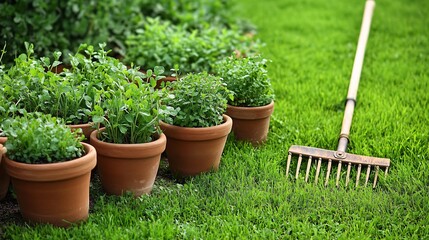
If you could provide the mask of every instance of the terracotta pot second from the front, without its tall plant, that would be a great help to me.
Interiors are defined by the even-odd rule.
[[[100,141],[97,133],[91,133],[91,144],[97,149],[98,173],[106,193],[149,194],[158,173],[161,153],[165,150],[165,135],[149,143],[115,144]]]

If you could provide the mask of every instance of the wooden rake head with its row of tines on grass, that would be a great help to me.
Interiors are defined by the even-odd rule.
[[[328,166],[326,169],[326,176],[325,176],[325,186],[329,183],[329,176],[331,174],[332,170],[332,164],[338,163],[337,168],[337,177],[335,181],[335,185],[339,186],[339,181],[341,178],[341,168],[342,166],[347,165],[347,175],[346,175],[346,186],[348,186],[350,182],[350,172],[351,172],[351,166],[357,165],[357,173],[356,173],[356,187],[359,185],[359,180],[361,178],[361,171],[362,167],[366,166],[366,177],[365,177],[365,186],[368,185],[368,181],[371,175],[371,168],[375,168],[375,175],[372,187],[375,188],[377,185],[377,179],[378,179],[378,172],[380,168],[385,168],[384,174],[387,176],[387,172],[389,171],[390,166],[390,159],[387,158],[376,158],[376,157],[368,157],[368,156],[362,156],[362,155],[355,155],[350,154],[346,152],[341,151],[331,151],[331,150],[325,150],[320,148],[313,148],[313,147],[305,147],[305,146],[297,146],[293,145],[289,148],[289,154],[288,159],[286,163],[286,176],[289,175],[289,170],[291,166],[291,160],[292,160],[292,154],[295,154],[298,156],[298,162],[297,167],[295,171],[295,179],[298,179],[298,175],[301,168],[302,158],[308,157],[307,162],[307,169],[305,173],[305,181],[308,182],[308,178],[310,175],[310,169],[313,164],[313,159],[315,160],[314,163],[317,164],[316,167],[316,176],[315,176],[315,183],[317,184],[319,180],[320,175],[320,168],[322,161],[327,161]]]

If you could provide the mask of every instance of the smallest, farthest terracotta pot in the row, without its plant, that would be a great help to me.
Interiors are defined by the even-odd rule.
[[[261,107],[236,107],[228,105],[226,114],[234,122],[232,131],[237,140],[251,142],[254,146],[267,140],[270,117],[274,111],[274,101]]]

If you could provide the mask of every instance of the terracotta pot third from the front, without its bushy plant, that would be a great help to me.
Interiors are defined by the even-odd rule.
[[[217,170],[231,132],[232,120],[223,115],[224,122],[214,127],[187,128],[161,122],[167,136],[169,167],[179,176],[195,176]]]

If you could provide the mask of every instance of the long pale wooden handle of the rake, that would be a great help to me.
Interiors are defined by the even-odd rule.
[[[372,15],[375,8],[374,0],[367,0],[365,3],[365,10],[362,19],[362,25],[359,34],[358,46],[356,49],[355,60],[353,63],[353,71],[350,78],[349,91],[347,94],[346,108],[344,111],[343,124],[341,127],[341,134],[338,140],[338,157],[342,157],[347,150],[349,142],[350,127],[352,125],[353,112],[356,106],[356,95],[359,87],[360,75],[362,72],[363,59],[365,55],[366,43],[368,41],[369,29],[371,27]],[[345,155],[344,155],[345,156]]]

